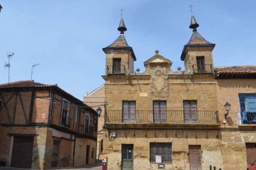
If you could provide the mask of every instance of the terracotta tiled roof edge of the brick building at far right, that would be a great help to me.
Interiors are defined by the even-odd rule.
[[[215,73],[256,73],[256,65],[242,65],[231,67],[214,67]]]

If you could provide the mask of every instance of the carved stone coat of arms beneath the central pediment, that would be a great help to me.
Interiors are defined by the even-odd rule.
[[[150,78],[150,94],[155,97],[168,97],[168,75],[165,68],[155,68]]]

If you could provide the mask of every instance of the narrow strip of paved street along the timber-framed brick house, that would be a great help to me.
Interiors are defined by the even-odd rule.
[[[6,167],[1,167],[1,170],[27,170],[23,168],[6,168]],[[86,165],[86,166],[77,166],[77,167],[67,167],[67,168],[54,168],[54,169],[69,169],[69,170],[79,170],[79,169],[90,169],[90,170],[101,170],[102,166],[101,163],[95,163],[92,165]]]

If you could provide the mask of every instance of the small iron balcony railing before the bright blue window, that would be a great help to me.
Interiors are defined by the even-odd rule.
[[[239,111],[237,115],[237,124],[256,124],[256,112]]]

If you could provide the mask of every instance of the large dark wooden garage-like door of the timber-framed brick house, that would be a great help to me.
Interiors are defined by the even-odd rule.
[[[12,167],[31,168],[34,137],[14,137]]]

